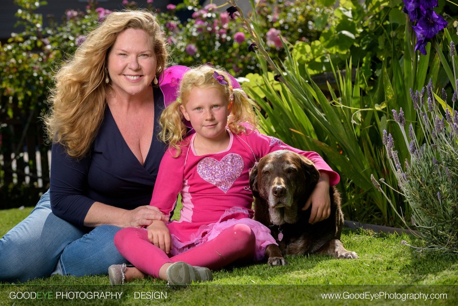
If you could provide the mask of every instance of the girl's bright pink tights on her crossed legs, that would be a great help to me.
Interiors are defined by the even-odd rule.
[[[115,236],[118,251],[140,271],[159,277],[165,263],[184,261],[192,266],[218,269],[233,262],[250,262],[255,253],[255,236],[244,224],[236,224],[221,232],[216,238],[199,244],[188,251],[168,257],[148,239],[145,229],[125,228]]]

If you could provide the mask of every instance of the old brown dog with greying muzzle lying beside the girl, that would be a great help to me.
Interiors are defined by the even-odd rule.
[[[316,224],[309,224],[311,207],[305,206],[320,173],[313,162],[288,150],[267,154],[250,173],[254,196],[254,219],[269,227],[278,243],[266,248],[267,263],[286,265],[284,254],[323,254],[335,258],[358,258],[347,251],[340,239],[344,214],[340,209],[337,189],[329,189],[331,215]]]

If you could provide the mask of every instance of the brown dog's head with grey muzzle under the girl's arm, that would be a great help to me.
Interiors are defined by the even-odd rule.
[[[319,178],[311,160],[280,150],[261,158],[251,170],[250,187],[255,198],[267,202],[273,224],[293,224]]]

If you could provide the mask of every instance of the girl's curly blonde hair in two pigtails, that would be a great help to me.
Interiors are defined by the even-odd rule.
[[[224,76],[228,85],[221,85],[214,77],[215,71]],[[241,89],[232,89],[231,78],[227,73],[215,69],[214,67],[203,65],[186,71],[180,83],[178,99],[167,106],[159,119],[162,130],[159,132],[159,138],[170,148],[177,150],[176,156],[181,153],[180,146],[187,132],[184,124],[184,117],[180,110],[180,104],[186,105],[189,94],[195,87],[208,88],[214,87],[221,91],[226,97],[227,102],[233,102],[231,116],[227,120],[228,128],[235,134],[246,132],[246,127],[255,128],[257,126],[257,117],[255,109],[259,106]]]

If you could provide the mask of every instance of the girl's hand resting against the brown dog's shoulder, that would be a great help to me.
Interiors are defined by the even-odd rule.
[[[325,172],[320,172],[320,179],[313,189],[310,197],[302,210],[307,210],[312,206],[308,222],[315,224],[329,217],[331,214],[331,197],[329,196],[329,176]]]

